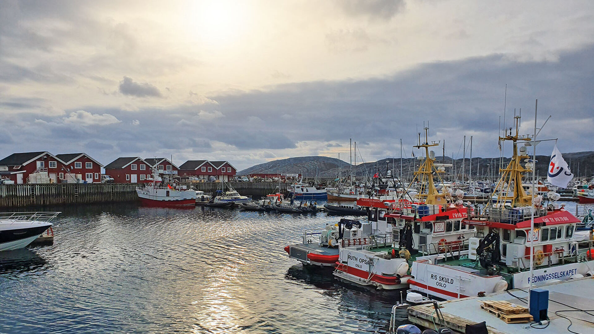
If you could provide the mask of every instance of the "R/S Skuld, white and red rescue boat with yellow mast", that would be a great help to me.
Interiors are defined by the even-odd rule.
[[[562,205],[544,205],[542,197],[526,194],[522,187],[522,174],[534,166],[526,161],[526,150],[518,148],[532,141],[519,136],[519,118],[515,134],[510,129],[500,137],[513,142],[513,157],[495,187],[497,201],[468,210],[461,222],[473,226],[475,236],[456,249],[435,245],[438,253],[416,256],[411,289],[452,300],[594,274],[592,241],[580,249],[574,237],[580,220]]]

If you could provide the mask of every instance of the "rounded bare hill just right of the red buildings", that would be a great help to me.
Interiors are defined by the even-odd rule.
[[[348,162],[327,156],[300,156],[289,157],[288,159],[273,160],[260,165],[251,166],[237,175],[248,175],[254,173],[288,173],[299,174],[306,177],[313,177],[329,169],[337,169],[339,166],[348,166]]]

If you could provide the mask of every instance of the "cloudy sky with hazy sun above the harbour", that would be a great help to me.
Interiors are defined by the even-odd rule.
[[[506,83],[508,125],[538,99],[542,138],[593,150],[592,1],[0,1],[2,157],[372,161],[424,121],[498,156]]]

